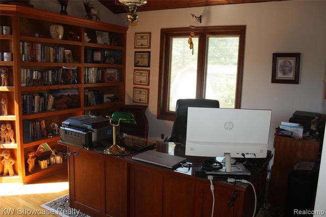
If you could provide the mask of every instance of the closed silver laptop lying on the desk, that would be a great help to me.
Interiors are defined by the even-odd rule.
[[[139,160],[146,163],[152,163],[158,166],[164,166],[171,169],[179,165],[179,163],[185,161],[187,158],[170,155],[158,151],[148,150],[132,156],[132,159]]]

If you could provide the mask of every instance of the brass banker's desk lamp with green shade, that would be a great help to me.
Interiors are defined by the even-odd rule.
[[[110,119],[110,124],[113,126],[113,145],[111,145],[109,148],[104,149],[104,153],[106,154],[121,154],[125,151],[123,147],[120,147],[117,145],[116,141],[116,132],[117,127],[121,123],[129,123],[129,124],[136,124],[135,118],[131,113],[128,112],[114,112],[112,116],[106,116]]]

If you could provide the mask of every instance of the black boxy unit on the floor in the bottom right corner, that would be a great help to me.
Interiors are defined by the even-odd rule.
[[[295,164],[294,169],[288,174],[283,216],[313,216],[306,212],[313,210],[318,172],[319,162],[303,161]]]

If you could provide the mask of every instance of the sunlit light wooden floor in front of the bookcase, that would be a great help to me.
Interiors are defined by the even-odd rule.
[[[0,183],[0,216],[45,216],[28,213],[43,210],[42,204],[67,194],[68,188],[67,171],[25,185]]]

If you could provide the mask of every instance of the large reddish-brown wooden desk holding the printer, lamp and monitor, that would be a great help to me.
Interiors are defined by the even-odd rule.
[[[211,216],[210,181],[195,176],[198,165],[172,170],[133,161],[130,155],[117,157],[72,146],[68,149],[80,151],[79,155],[69,157],[69,194],[71,206],[84,213],[119,217]],[[184,155],[185,146],[157,143],[156,150]],[[266,158],[260,169],[252,169],[252,175],[237,177],[255,185],[257,210],[263,202],[270,158]],[[189,159],[195,162],[198,157]],[[219,177],[214,179],[214,188],[214,216],[252,216],[254,195],[250,185],[233,186],[226,182],[226,177]],[[233,189],[238,191],[234,209],[227,205]]]

